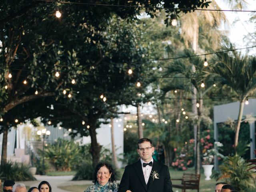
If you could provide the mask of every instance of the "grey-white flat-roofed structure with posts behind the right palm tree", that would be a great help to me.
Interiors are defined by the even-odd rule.
[[[244,105],[243,117],[246,115],[256,116],[256,99],[248,100],[249,104]],[[239,102],[233,102],[214,106],[214,141],[218,141],[218,123],[226,122],[228,118],[237,120],[239,113]],[[255,158],[255,122],[250,124],[250,158]],[[214,159],[214,168],[218,166],[217,157]]]

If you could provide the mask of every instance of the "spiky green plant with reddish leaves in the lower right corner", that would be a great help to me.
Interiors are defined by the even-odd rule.
[[[237,154],[228,156],[219,166],[219,171],[213,174],[217,180],[225,179],[234,188],[240,192],[246,192],[255,186],[255,174],[248,171],[247,162]]]

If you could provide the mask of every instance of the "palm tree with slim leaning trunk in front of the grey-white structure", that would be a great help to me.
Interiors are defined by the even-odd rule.
[[[233,49],[232,45],[230,49]],[[234,141],[236,148],[244,102],[252,92],[256,91],[256,58],[247,54],[242,56],[241,52],[236,51],[219,53],[214,58],[210,72],[220,76],[222,84],[229,86],[240,102]]]

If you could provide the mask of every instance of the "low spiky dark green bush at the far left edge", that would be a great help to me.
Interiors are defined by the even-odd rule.
[[[0,165],[0,179],[1,180],[13,180],[13,181],[29,181],[36,180],[32,174],[28,171],[29,166],[7,162]]]

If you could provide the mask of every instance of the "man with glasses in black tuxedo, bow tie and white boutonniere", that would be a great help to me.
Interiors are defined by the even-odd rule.
[[[153,160],[148,138],[138,140],[140,160],[125,167],[118,192],[173,192],[169,169]]]

